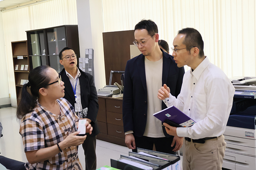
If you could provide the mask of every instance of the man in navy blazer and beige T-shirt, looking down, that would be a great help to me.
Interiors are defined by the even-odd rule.
[[[166,108],[157,98],[157,87],[168,84],[171,94],[177,97],[184,67],[178,68],[173,56],[159,48],[158,29],[153,21],[141,20],[135,26],[134,36],[133,43],[142,54],[128,60],[125,67],[125,143],[134,152],[136,147],[152,150],[155,144],[156,151],[174,154],[181,148],[183,138],[168,135],[161,121],[153,114]]]

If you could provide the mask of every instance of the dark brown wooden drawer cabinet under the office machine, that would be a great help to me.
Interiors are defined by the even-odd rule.
[[[123,125],[123,98],[113,99],[112,97],[99,98],[99,111],[97,120],[100,134],[97,139],[126,146],[124,142]]]

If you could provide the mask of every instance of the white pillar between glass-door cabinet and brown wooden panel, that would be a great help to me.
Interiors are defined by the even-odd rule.
[[[97,89],[106,85],[103,53],[103,18],[101,0],[76,0],[80,55],[94,49],[94,79]]]

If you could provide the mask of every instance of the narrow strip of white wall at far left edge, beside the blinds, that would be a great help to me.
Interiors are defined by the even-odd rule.
[[[5,55],[5,45],[4,45],[4,27],[2,13],[0,12],[0,105],[10,104],[11,100],[9,98],[9,82],[7,76],[7,66],[6,66],[6,55]]]

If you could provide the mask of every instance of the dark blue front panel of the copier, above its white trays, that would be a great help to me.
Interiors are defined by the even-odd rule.
[[[228,118],[227,126],[256,129],[255,126],[256,115],[230,115]]]

